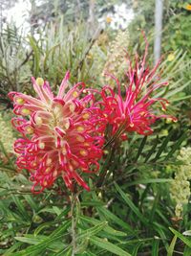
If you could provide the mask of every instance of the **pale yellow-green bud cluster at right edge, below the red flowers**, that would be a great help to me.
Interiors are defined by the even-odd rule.
[[[176,202],[175,214],[180,217],[183,205],[188,203],[190,198],[190,182],[191,180],[191,147],[182,148],[178,159],[182,162],[175,174],[175,178],[171,185],[171,197]]]

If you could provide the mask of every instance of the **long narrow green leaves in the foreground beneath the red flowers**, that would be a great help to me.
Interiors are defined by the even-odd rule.
[[[13,163],[8,163],[7,173],[3,169],[0,173],[0,252],[72,255],[74,250],[74,255],[122,256],[152,251],[153,255],[171,255],[175,239],[168,227],[174,227],[174,215],[168,186],[171,177],[165,169],[179,165],[172,154],[167,156],[179,150],[180,143],[182,136],[175,131],[166,138],[132,136],[123,145],[124,155],[113,154],[107,162],[103,184],[96,188],[90,180],[91,192],[73,198],[66,191],[60,195],[56,186],[32,196],[28,176],[8,172],[13,170]],[[94,177],[94,184],[99,178]]]

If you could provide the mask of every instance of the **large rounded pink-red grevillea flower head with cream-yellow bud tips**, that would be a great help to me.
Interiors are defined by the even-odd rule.
[[[18,154],[17,166],[27,169],[33,182],[32,192],[40,193],[62,176],[67,187],[73,189],[74,180],[89,190],[80,174],[98,169],[102,155],[103,137],[100,135],[101,118],[94,106],[94,96],[87,94],[79,100],[84,83],[79,82],[65,93],[69,73],[62,81],[57,96],[42,79],[32,78],[38,98],[19,92],[9,94],[18,116],[12,125],[21,134],[14,151]],[[96,171],[95,170],[95,171]],[[35,187],[40,190],[36,191]]]

